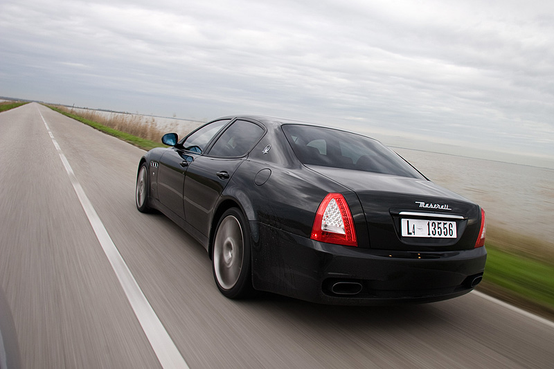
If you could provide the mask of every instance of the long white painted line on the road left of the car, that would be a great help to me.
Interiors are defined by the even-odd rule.
[[[50,127],[48,127],[48,123],[46,123],[46,120],[40,111],[39,114],[44,122],[44,125],[46,126],[46,130],[48,130],[48,134],[52,138],[52,142],[54,143],[57,153],[60,154],[60,159],[62,159],[62,163],[64,164],[67,174],[69,175],[73,189],[75,189],[77,197],[81,202],[81,206],[84,209],[84,213],[87,214],[94,233],[96,233],[96,237],[102,245],[102,249],[104,249],[111,267],[116,272],[116,276],[119,279],[121,287],[123,287],[123,291],[125,291],[127,300],[129,300],[136,318],[139,319],[139,323],[141,324],[148,341],[150,341],[150,345],[152,345],[161,366],[163,368],[188,368],[185,359],[181,356],[181,353],[175,346],[175,343],[172,341],[166,331],[166,328],[163,327],[163,324],[154,312],[154,309],[152,309],[152,306],[144,296],[141,287],[139,287],[139,284],[134,279],[129,267],[125,264],[125,261],[121,257],[116,245],[111,240],[111,237],[109,237],[104,224],[102,224],[100,217],[98,217],[96,210],[94,210],[91,201],[89,201],[89,198],[85,195],[77,177],[75,177],[73,169],[71,169],[71,165],[69,165],[69,161],[67,161],[60,145],[58,145],[55,140]]]

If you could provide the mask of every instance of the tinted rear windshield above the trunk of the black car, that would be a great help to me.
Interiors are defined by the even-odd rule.
[[[310,125],[283,125],[283,132],[305,165],[422,178],[404,159],[373,138]]]

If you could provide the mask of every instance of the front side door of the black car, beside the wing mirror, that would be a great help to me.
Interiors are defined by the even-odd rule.
[[[209,143],[231,119],[216,120],[189,134],[161,156],[158,168],[158,199],[179,217],[185,219],[183,186],[190,163],[201,157]]]

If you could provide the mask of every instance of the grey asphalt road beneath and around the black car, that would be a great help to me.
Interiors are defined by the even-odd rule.
[[[553,366],[554,325],[480,294],[402,307],[227,300],[202,246],[136,210],[143,151],[33,103],[0,114],[0,283],[24,368],[161,367],[41,114],[190,368]]]

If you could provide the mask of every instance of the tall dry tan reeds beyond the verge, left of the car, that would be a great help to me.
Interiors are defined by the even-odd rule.
[[[106,127],[116,129],[120,132],[132,134],[146,140],[161,143],[161,136],[168,132],[175,132],[179,137],[190,133],[200,123],[170,123],[161,125],[154,117],[141,116],[136,114],[111,113],[107,111],[96,111],[90,109],[73,109],[57,106],[58,109],[70,114],[76,114],[82,118],[100,123]]]

